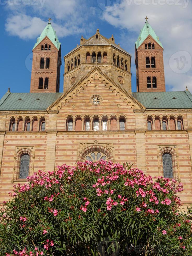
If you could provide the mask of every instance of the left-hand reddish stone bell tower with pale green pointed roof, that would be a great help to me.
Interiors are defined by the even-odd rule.
[[[33,47],[30,92],[59,92],[60,67],[61,43],[49,18]]]

